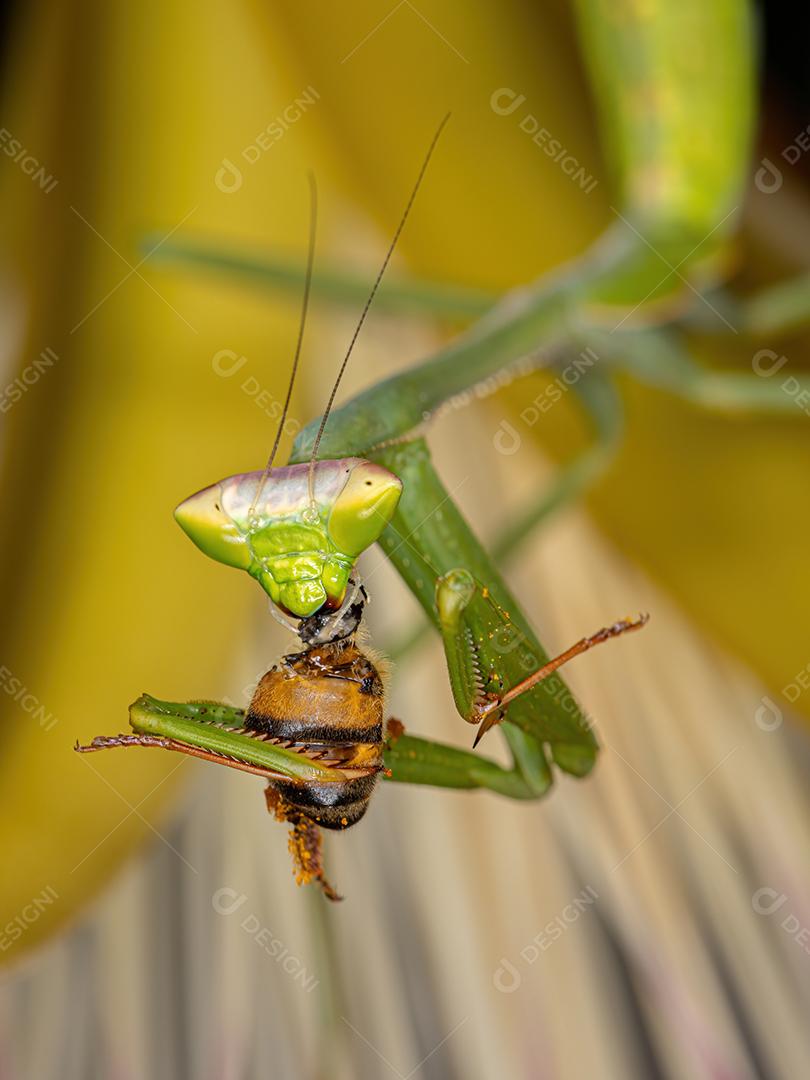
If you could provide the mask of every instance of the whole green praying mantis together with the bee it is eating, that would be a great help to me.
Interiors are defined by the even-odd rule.
[[[303,648],[262,677],[247,711],[145,694],[130,710],[132,734],[80,747],[159,746],[265,777],[269,809],[293,827],[299,881],[319,881],[332,899],[337,894],[323,872],[319,829],[359,821],[379,775],[536,799],[548,793],[553,766],[576,777],[589,773],[597,742],[557,669],[645,622],[644,617],[621,620],[550,659],[495,559],[436,474],[426,423],[449,399],[494,375],[552,366],[582,341],[598,341],[603,366],[623,364],[636,377],[676,393],[700,400],[711,391],[712,401],[730,408],[754,400],[750,378],[704,375],[673,336],[624,327],[625,319],[608,333],[604,318],[607,312],[616,323],[617,311],[629,319],[643,308],[652,313],[646,325],[665,324],[684,308],[684,275],[698,269],[712,273],[716,266],[733,226],[747,154],[748,10],[739,0],[710,9],[688,0],[677,8],[653,4],[651,13],[627,9],[617,19],[604,0],[581,0],[579,6],[603,126],[615,134],[619,150],[615,165],[623,220],[552,279],[494,303],[437,355],[333,409],[437,132],[324,414],[300,432],[288,464],[279,468],[274,459],[313,283],[313,193],[300,330],[268,464],[203,489],[176,511],[202,551],[256,578]],[[700,78],[677,50],[696,26],[703,40],[727,45],[724,63],[713,53]],[[636,63],[618,71],[620,56]],[[659,112],[639,112],[642,99],[657,103]],[[700,132],[711,132],[711,153]],[[679,272],[662,275],[662,260]],[[418,303],[419,291],[411,288],[408,299]],[[458,291],[446,299],[450,308],[471,305],[470,313],[488,307],[481,296]],[[577,393],[611,441],[613,403],[606,373],[590,373]],[[762,401],[768,388],[756,387],[756,393],[766,408],[784,407],[778,395]],[[571,490],[581,488],[603,464],[595,449],[566,483]],[[509,767],[474,750],[406,733],[399,721],[386,727],[382,681],[356,640],[367,599],[356,559],[374,542],[438,631],[457,711],[476,725],[476,743],[500,725],[511,752]]]

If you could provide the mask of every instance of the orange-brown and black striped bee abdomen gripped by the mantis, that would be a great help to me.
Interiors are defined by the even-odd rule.
[[[329,782],[273,780],[288,808],[324,828],[360,821],[382,768],[382,696],[377,669],[351,638],[285,657],[262,676],[245,727],[346,775]]]

